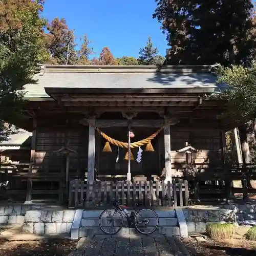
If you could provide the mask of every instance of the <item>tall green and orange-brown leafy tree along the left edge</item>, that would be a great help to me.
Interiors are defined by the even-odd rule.
[[[0,1],[0,140],[15,133],[14,123],[22,112],[23,85],[35,82],[37,63],[47,54],[44,41],[46,20],[42,1]]]

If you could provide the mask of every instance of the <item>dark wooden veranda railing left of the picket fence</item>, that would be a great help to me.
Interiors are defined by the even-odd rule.
[[[65,173],[46,173],[39,164],[1,163],[0,200],[53,198],[62,203],[65,177]]]

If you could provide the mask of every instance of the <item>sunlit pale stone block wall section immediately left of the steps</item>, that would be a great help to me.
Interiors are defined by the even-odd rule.
[[[35,234],[68,234],[76,210],[29,210],[26,212],[23,232]]]

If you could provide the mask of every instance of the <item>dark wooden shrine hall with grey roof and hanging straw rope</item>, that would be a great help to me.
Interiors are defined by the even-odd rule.
[[[231,124],[217,118],[225,102],[209,97],[222,87],[209,66],[44,65],[35,79],[15,124],[32,132],[29,168],[10,185],[27,201],[61,202],[75,179],[172,182],[188,160],[223,165]]]

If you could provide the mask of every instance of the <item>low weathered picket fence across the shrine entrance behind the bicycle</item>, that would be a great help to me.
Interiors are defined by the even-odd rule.
[[[183,180],[167,184],[163,181],[70,182],[69,208],[109,207],[113,199],[118,199],[120,204],[127,206],[133,206],[136,202],[142,202],[144,207],[187,206],[188,183]]]

